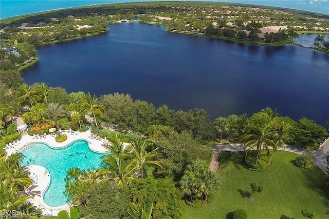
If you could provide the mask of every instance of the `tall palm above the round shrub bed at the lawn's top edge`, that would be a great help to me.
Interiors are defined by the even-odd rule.
[[[267,125],[264,128],[259,125],[252,125],[250,127],[250,134],[243,134],[240,136],[239,141],[244,143],[244,150],[247,155],[247,151],[250,149],[257,150],[256,164],[261,155],[261,150],[266,149],[269,155],[269,148],[275,147],[275,142],[271,140],[272,126]]]

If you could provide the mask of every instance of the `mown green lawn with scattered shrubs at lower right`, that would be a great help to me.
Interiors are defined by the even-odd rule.
[[[247,170],[241,165],[244,152],[232,153],[222,162],[217,174],[222,185],[213,201],[202,208],[186,206],[184,218],[230,218],[236,209],[244,209],[248,218],[303,218],[301,209],[314,210],[317,218],[329,217],[329,190],[325,174],[313,166],[302,170],[295,166],[298,154],[278,151],[276,165],[265,172]],[[254,194],[254,202],[248,201],[249,184],[264,186]]]

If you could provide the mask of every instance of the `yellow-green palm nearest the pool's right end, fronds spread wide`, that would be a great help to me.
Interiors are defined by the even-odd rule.
[[[130,184],[136,180],[134,177],[136,162],[131,155],[126,153],[105,156],[102,163],[106,165],[106,168],[99,169],[99,174],[104,176],[101,183],[113,180],[119,187]]]

